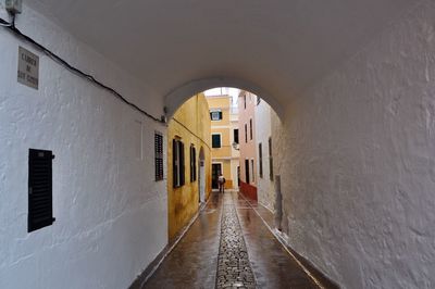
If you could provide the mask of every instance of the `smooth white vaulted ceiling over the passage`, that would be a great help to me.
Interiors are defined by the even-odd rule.
[[[162,96],[232,77],[285,103],[351,56],[410,0],[33,0]]]

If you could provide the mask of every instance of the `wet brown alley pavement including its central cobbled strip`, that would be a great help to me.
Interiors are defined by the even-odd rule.
[[[142,288],[319,288],[264,225],[257,212],[265,221],[272,215],[261,210],[238,192],[213,193]]]

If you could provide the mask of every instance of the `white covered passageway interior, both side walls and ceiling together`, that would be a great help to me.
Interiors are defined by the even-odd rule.
[[[0,17],[0,287],[62,288],[67,273],[126,288],[152,267],[169,239],[159,120],[212,86],[278,113],[295,251],[345,288],[435,287],[433,1],[37,0]],[[51,225],[35,231],[30,149],[55,155]]]

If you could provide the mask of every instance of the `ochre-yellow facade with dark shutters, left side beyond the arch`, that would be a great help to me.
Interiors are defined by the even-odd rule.
[[[188,225],[211,192],[211,133],[203,93],[187,100],[167,127],[169,238]]]

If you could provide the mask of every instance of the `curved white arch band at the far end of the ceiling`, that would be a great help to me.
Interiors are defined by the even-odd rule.
[[[164,99],[166,117],[172,117],[176,110],[192,96],[215,87],[234,87],[250,91],[266,101],[279,117],[284,115],[283,105],[261,86],[240,78],[210,77],[188,81],[167,93]]]

